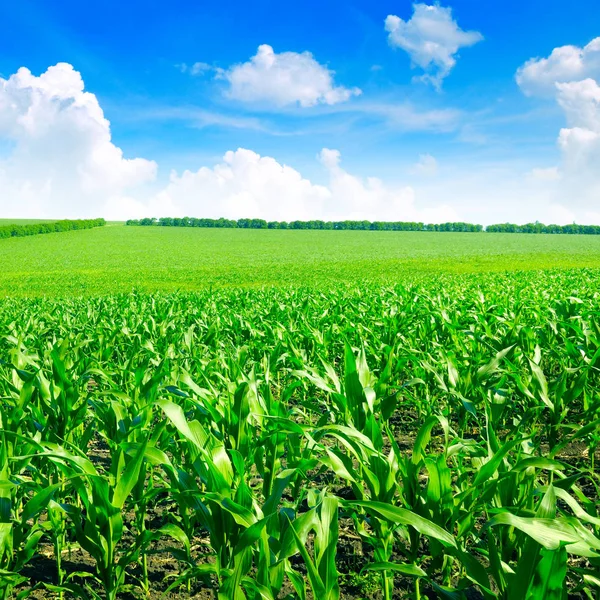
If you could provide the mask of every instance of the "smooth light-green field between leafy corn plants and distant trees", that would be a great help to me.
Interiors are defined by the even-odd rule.
[[[600,236],[124,227],[0,241],[0,294],[393,284],[600,268]]]

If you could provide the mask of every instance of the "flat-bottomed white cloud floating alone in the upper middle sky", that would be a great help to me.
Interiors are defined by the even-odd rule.
[[[227,95],[243,102],[276,106],[338,104],[361,93],[336,86],[334,72],[319,64],[310,52],[282,52],[263,44],[248,62],[234,65],[219,77],[229,83]]]

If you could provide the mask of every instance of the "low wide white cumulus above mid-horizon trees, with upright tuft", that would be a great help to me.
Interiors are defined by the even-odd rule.
[[[341,167],[338,150],[324,148],[318,158],[327,172],[327,185],[314,184],[274,158],[240,148],[227,152],[212,168],[172,173],[169,185],[154,204],[169,206],[170,214],[212,218],[456,219],[449,206],[418,207],[410,187],[390,187],[380,179],[348,173]]]

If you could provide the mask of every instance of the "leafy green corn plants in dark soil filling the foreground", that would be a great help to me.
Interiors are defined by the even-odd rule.
[[[0,599],[600,598],[600,287],[0,301]]]

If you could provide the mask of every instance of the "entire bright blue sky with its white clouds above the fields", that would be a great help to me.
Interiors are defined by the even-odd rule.
[[[390,219],[583,222],[600,213],[589,169],[600,152],[586,147],[591,154],[584,160],[578,145],[559,139],[563,128],[598,133],[596,121],[581,116],[591,110],[600,123],[595,88],[591,95],[568,91],[579,117],[565,108],[567,92],[531,92],[532,82],[546,76],[566,85],[600,78],[600,51],[584,52],[600,36],[600,4],[591,0],[568,6],[233,1],[226,7],[26,0],[3,3],[0,22],[0,84],[13,77],[4,85],[4,126],[0,95],[0,212],[7,216],[172,211],[375,219],[389,213]],[[443,31],[433,31],[438,25]],[[442,62],[427,63],[432,40],[438,48],[447,44]],[[261,45],[272,49],[264,56],[279,74],[305,69],[304,88],[316,87],[300,89],[294,75],[282,84],[273,70],[257,69],[252,57]],[[569,57],[564,64],[538,61],[517,82],[527,61],[565,46],[575,57],[585,55],[585,68],[569,71]],[[37,79],[57,64],[72,66],[87,96],[78,96],[77,85],[65,91],[71,72],[43,84]],[[35,79],[17,81],[22,67]],[[321,93],[317,79],[324,74],[330,81]],[[73,113],[78,98],[91,102],[87,121]],[[24,112],[9,112],[9,103]],[[32,106],[40,123],[52,125],[42,136],[7,125]],[[110,123],[103,132],[95,129],[97,110]],[[238,148],[253,154],[224,159]],[[119,162],[113,149],[122,151],[121,161],[145,162]],[[323,149],[337,154],[325,159]],[[55,160],[45,160],[48,152]],[[99,156],[110,158],[99,166]],[[220,182],[219,165],[235,183]],[[120,173],[110,186],[101,167]],[[132,175],[133,167],[139,171]],[[203,167],[211,173],[199,174]],[[94,177],[102,185],[90,191]],[[354,202],[346,205],[344,196]]]

